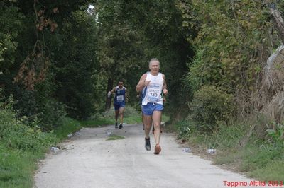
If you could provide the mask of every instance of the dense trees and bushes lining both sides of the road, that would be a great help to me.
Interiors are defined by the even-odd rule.
[[[222,150],[266,146],[262,166],[282,160],[283,119],[268,104],[283,81],[263,87],[266,61],[284,39],[275,11],[283,15],[283,1],[0,1],[0,155],[45,151],[58,141],[54,130],[79,129],[68,118],[109,108],[107,91],[121,78],[137,105],[136,83],[157,57],[180,136],[205,136]],[[0,182],[17,176],[11,169],[0,161]]]

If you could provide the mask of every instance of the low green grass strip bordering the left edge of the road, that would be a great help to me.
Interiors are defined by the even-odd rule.
[[[0,142],[0,187],[33,187],[33,176],[38,168],[38,160],[45,157],[50,146],[56,146],[60,140],[67,138],[67,134],[72,134],[80,128],[79,122],[66,118],[61,127],[50,133],[27,129],[33,134],[28,134],[28,131],[23,134],[16,131],[16,136],[13,136],[15,134],[11,130],[9,132],[12,136],[9,139],[11,144]]]

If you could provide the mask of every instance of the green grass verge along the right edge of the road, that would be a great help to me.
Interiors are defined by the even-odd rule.
[[[173,125],[175,131],[186,130],[181,128],[191,126],[192,122],[188,120]],[[237,172],[245,172],[260,181],[284,180],[283,148],[276,147],[267,138],[261,139],[254,133],[248,137],[249,124],[221,124],[211,133],[194,128],[191,130],[190,133],[180,133],[182,138],[186,137],[189,145],[196,149],[216,148],[217,155],[212,158],[215,164],[234,167]],[[206,155],[206,151],[199,152]]]

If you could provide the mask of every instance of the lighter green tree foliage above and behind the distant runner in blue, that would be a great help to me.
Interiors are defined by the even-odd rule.
[[[111,90],[119,79],[123,79],[130,91],[129,103],[134,103],[136,93],[132,91],[135,90],[139,76],[147,70],[148,61],[145,57],[148,50],[145,36],[141,28],[133,25],[136,18],[133,20],[130,16],[134,13],[130,10],[136,5],[124,1],[97,1],[96,7],[99,12],[99,75],[108,81],[105,90]]]

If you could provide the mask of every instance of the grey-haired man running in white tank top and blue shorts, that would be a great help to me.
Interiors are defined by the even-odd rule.
[[[155,127],[155,152],[159,154],[160,148],[160,120],[163,111],[163,98],[164,95],[168,94],[167,85],[165,83],[165,75],[159,72],[160,61],[158,59],[151,59],[149,62],[150,73],[143,74],[136,86],[136,91],[141,92],[143,88],[146,88],[145,95],[143,95],[142,107],[144,114],[145,124],[145,148],[147,151],[151,150],[151,143],[149,132],[153,124]]]

